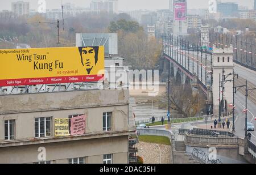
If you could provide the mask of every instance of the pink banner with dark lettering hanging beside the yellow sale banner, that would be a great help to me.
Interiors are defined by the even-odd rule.
[[[70,135],[85,133],[85,115],[71,118]]]

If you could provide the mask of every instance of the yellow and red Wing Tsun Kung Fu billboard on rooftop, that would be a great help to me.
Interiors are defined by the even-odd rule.
[[[97,82],[104,69],[104,46],[0,50],[0,87]]]

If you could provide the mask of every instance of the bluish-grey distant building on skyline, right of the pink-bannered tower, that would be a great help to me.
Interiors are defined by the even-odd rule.
[[[220,12],[223,17],[237,16],[238,4],[233,2],[218,3],[217,11]]]

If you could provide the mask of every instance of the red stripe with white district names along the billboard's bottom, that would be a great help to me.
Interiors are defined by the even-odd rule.
[[[35,85],[35,84],[97,82],[102,78],[104,78],[104,75],[56,76],[56,77],[47,77],[47,78],[8,79],[8,80],[0,80],[0,87],[24,86],[24,85]]]

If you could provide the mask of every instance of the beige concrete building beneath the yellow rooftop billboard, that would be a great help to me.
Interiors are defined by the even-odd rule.
[[[128,136],[135,131],[129,80],[117,82],[111,75],[123,72],[128,78],[122,62],[119,57],[105,58],[108,73],[102,86],[63,83],[57,88],[44,85],[47,91],[36,91],[35,86],[26,93],[19,92],[22,87],[13,91],[16,94],[1,91],[0,163],[129,163]],[[85,134],[55,136],[55,118],[82,114]]]

